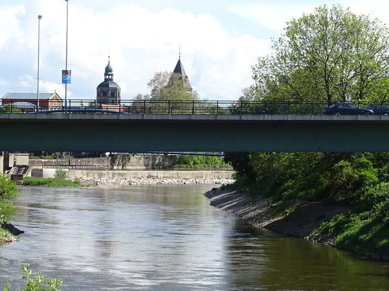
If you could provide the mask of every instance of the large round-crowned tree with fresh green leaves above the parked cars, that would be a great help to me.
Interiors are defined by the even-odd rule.
[[[389,75],[387,27],[340,5],[291,20],[272,48],[253,67],[259,99],[365,101]]]

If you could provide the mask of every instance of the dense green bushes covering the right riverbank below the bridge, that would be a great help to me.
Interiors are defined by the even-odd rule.
[[[277,201],[351,207],[313,235],[338,247],[389,258],[389,153],[227,154],[239,189]]]

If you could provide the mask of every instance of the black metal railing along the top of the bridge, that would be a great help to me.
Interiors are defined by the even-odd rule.
[[[347,103],[362,109],[371,103]],[[389,104],[373,104],[381,111]],[[97,100],[12,100],[3,99],[0,113],[101,113],[101,114],[202,114],[202,115],[262,115],[294,114],[321,115],[328,106],[325,102],[266,102],[266,101],[97,101]]]

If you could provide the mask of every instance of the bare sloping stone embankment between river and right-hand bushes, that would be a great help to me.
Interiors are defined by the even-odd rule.
[[[324,205],[316,202],[274,202],[260,196],[251,197],[234,190],[212,190],[205,193],[210,204],[234,213],[246,223],[274,230],[286,235],[308,238],[322,222],[348,211],[345,206]],[[333,244],[331,240],[314,237],[320,243]]]

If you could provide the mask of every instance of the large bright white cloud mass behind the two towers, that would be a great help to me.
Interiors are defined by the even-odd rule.
[[[85,4],[85,3],[83,3]],[[10,33],[0,38],[2,66],[11,67],[1,78],[14,79],[14,88],[0,90],[34,91],[36,71],[37,14],[41,20],[41,78],[43,90],[57,89],[65,67],[65,4],[42,0],[24,6],[1,8],[11,13]],[[3,42],[2,42],[3,41]],[[11,51],[2,48],[8,43]],[[163,10],[150,12],[137,5],[112,3],[105,10],[90,10],[69,2],[69,63],[73,98],[95,99],[96,86],[103,80],[110,50],[114,80],[123,91],[122,99],[132,99],[148,91],[146,84],[155,71],[173,70],[182,47],[182,62],[192,86],[202,98],[236,100],[242,87],[251,83],[251,65],[269,50],[267,40],[248,34],[231,35],[211,15]],[[34,79],[34,77],[31,77]],[[46,84],[46,85],[45,85]]]

